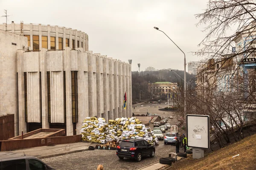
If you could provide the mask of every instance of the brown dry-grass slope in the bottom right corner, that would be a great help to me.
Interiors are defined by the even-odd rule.
[[[239,154],[233,158],[233,156]],[[203,159],[188,154],[168,170],[256,170],[256,134],[209,153]]]

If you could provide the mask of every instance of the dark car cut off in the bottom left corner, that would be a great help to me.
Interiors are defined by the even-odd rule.
[[[55,170],[33,156],[5,155],[0,159],[0,170]]]

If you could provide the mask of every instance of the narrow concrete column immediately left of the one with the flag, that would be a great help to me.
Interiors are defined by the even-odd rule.
[[[118,61],[118,81],[119,81],[119,109],[118,109],[118,117],[122,117],[122,110],[123,110],[123,101],[124,101],[124,93],[123,93],[123,79],[122,79],[122,63]]]

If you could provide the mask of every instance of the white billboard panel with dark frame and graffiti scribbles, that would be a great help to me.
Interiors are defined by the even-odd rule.
[[[210,148],[209,116],[186,115],[187,146],[201,149]]]

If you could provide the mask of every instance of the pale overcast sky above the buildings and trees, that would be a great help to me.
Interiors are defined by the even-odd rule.
[[[195,14],[204,12],[207,0],[0,0],[0,16],[7,9],[9,23],[41,23],[84,31],[89,50],[128,62],[132,71],[148,66],[183,69],[183,54],[160,31],[164,31],[186,54],[198,50],[204,38]],[[5,18],[0,18],[5,23]]]

